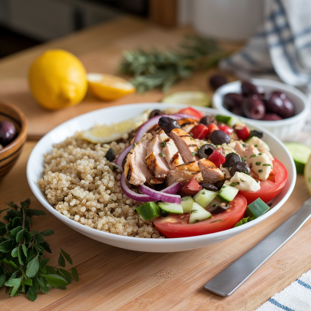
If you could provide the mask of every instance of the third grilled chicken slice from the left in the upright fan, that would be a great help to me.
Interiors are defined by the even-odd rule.
[[[183,159],[173,139],[167,136],[164,131],[161,131],[159,136],[162,152],[164,153],[164,158],[169,165],[169,168],[174,169],[176,166],[183,164]]]

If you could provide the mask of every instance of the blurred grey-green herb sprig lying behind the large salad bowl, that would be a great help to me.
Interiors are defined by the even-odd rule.
[[[186,36],[177,50],[125,51],[119,71],[133,77],[131,82],[138,92],[157,87],[165,92],[177,81],[190,77],[198,69],[215,66],[227,55],[212,39]]]

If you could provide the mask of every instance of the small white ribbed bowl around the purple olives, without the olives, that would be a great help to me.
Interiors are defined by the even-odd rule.
[[[262,86],[267,94],[273,91],[282,91],[295,105],[296,115],[291,118],[278,120],[278,121],[262,121],[253,120],[249,118],[239,118],[243,122],[248,122],[255,126],[262,126],[280,138],[282,141],[289,140],[301,131],[306,119],[310,113],[310,102],[308,97],[298,89],[288,84],[268,80],[268,79],[252,79],[251,82],[255,85]],[[241,93],[241,81],[234,81],[226,83],[216,90],[213,96],[213,107],[219,109],[221,112],[236,115],[228,111],[223,106],[223,97],[228,93]]]

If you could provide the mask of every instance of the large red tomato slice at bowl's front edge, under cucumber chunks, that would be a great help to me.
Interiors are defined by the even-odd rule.
[[[220,213],[212,214],[212,218],[189,224],[189,213],[169,214],[153,220],[156,228],[169,238],[181,238],[186,236],[202,235],[232,228],[241,220],[246,211],[246,199],[237,194],[229,203],[229,209]]]

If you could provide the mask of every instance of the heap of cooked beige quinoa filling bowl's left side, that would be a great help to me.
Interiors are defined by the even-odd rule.
[[[49,203],[66,217],[91,228],[141,238],[162,238],[152,222],[134,211],[138,202],[121,190],[121,174],[104,157],[119,154],[125,143],[93,144],[78,136],[53,145],[44,156],[38,185]]]

